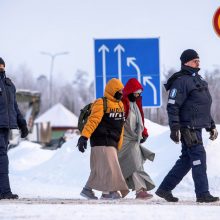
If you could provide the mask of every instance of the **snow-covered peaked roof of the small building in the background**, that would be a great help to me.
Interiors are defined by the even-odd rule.
[[[50,122],[51,127],[77,127],[78,118],[61,103],[58,103],[40,115],[34,122]]]

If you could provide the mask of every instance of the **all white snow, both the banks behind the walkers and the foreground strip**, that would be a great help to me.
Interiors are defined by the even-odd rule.
[[[150,137],[144,146],[156,153],[145,170],[158,186],[180,154],[180,145],[169,139],[169,128],[146,120]],[[220,130],[220,126],[217,127]],[[10,180],[13,192],[21,198],[82,199],[79,195],[89,175],[90,149],[82,154],[76,148],[78,136],[56,151],[43,150],[38,144],[24,141],[9,151]],[[220,138],[214,142],[204,132],[210,191],[220,195]],[[152,191],[154,193],[155,190]],[[100,192],[96,191],[100,196]],[[181,200],[195,201],[191,172],[174,190]],[[134,198],[131,192],[128,198]],[[0,201],[0,219],[219,219],[219,203],[206,205],[157,204],[25,204]],[[159,202],[160,203],[160,202]],[[13,210],[13,211],[12,211]],[[26,216],[26,217],[25,217]]]

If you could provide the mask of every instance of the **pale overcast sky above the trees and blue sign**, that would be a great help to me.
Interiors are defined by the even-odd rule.
[[[219,0],[0,0],[0,57],[7,68],[26,64],[72,80],[77,69],[94,75],[94,39],[160,38],[160,64],[176,69],[183,50],[195,49],[202,70],[220,67],[220,38],[212,18]]]

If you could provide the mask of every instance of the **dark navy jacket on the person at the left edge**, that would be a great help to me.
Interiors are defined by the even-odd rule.
[[[0,128],[21,128],[26,125],[16,102],[16,89],[5,73],[0,73]]]

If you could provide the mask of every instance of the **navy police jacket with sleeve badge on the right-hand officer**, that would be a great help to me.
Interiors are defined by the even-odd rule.
[[[169,92],[167,112],[170,127],[211,128],[212,98],[199,69],[182,66],[165,84]]]

